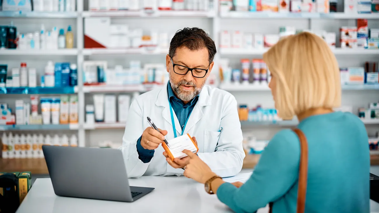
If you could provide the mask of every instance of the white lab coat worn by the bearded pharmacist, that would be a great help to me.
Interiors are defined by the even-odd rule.
[[[122,109],[119,109],[122,110]],[[176,133],[182,127],[174,113]],[[147,117],[154,124],[167,130],[167,140],[174,138],[167,95],[167,85],[138,96],[130,106],[124,137],[122,154],[128,177],[142,175],[182,175],[183,169],[174,169],[162,154],[164,149],[155,149],[149,163],[138,158],[137,140],[150,127]],[[222,127],[222,133],[218,132]],[[241,171],[245,153],[242,147],[242,131],[238,118],[237,102],[229,92],[205,85],[185,126],[184,134],[195,136],[199,147],[198,156],[221,177],[230,177]]]

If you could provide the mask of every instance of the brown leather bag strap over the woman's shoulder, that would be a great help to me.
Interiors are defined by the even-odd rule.
[[[307,179],[308,179],[308,142],[304,133],[298,128],[293,129],[293,132],[298,135],[300,141],[300,163],[299,163],[299,187],[298,187],[298,205],[296,213],[304,213],[305,196],[307,194]],[[269,203],[269,213],[273,211],[273,202]]]

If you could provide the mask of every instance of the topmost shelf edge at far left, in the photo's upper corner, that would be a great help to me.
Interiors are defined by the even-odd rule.
[[[0,11],[0,17],[11,18],[75,19],[77,16],[77,12]]]

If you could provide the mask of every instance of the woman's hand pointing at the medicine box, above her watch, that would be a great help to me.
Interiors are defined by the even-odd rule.
[[[186,153],[190,158],[185,167],[184,176],[194,179],[199,183],[205,183],[216,175],[199,156],[186,149],[183,150],[183,153]]]

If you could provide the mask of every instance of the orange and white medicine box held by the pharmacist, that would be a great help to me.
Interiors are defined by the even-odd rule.
[[[176,137],[168,140],[167,142],[169,147],[165,143],[162,143],[162,146],[171,160],[174,160],[174,158],[180,159],[186,157],[187,154],[182,152],[185,149],[188,149],[193,153],[197,153],[197,151],[199,151],[195,141],[193,141],[189,134]]]

